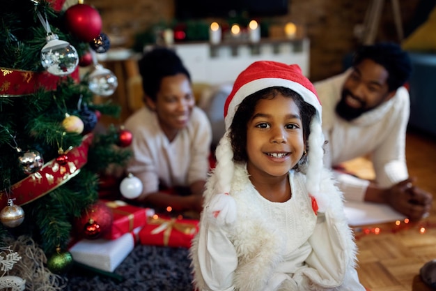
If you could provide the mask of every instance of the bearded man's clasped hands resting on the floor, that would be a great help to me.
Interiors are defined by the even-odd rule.
[[[412,221],[428,216],[433,196],[413,185],[414,179],[407,179],[387,189],[387,203],[396,211],[404,214]]]

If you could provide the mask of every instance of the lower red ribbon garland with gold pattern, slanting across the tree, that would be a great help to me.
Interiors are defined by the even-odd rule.
[[[14,204],[23,205],[36,200],[55,188],[62,186],[72,177],[79,174],[81,167],[88,161],[88,147],[93,140],[93,134],[85,135],[79,147],[68,151],[68,163],[60,165],[56,158],[46,163],[42,168],[10,187]],[[0,209],[6,207],[8,197],[5,191],[0,192]]]

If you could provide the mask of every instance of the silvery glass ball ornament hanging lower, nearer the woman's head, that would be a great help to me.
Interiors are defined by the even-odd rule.
[[[88,86],[96,95],[111,96],[114,94],[116,87],[118,87],[118,79],[111,70],[96,64],[95,70],[89,75]]]

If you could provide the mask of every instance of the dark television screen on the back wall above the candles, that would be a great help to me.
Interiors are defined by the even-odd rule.
[[[289,0],[175,0],[179,20],[229,17],[247,12],[251,17],[286,15]]]

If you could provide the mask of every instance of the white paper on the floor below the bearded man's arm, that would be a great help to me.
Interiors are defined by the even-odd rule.
[[[351,226],[402,221],[406,218],[387,204],[348,201],[344,208]]]

